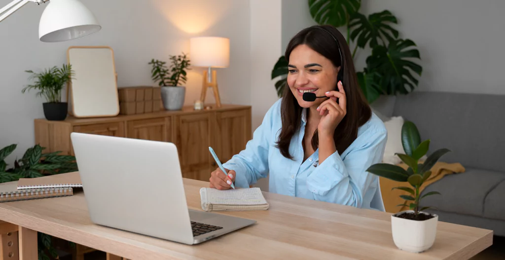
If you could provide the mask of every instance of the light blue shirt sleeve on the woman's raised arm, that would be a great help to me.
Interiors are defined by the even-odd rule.
[[[387,132],[376,130],[363,140],[364,145],[347,153],[344,160],[335,152],[314,169],[307,187],[315,200],[361,208],[365,192],[377,180],[366,169],[382,161]]]

